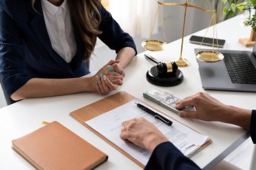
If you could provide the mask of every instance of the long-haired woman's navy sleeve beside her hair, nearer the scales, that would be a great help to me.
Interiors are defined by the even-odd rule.
[[[100,7],[100,14],[102,17],[102,22],[100,23],[100,31],[102,31],[102,34],[100,34],[98,38],[116,52],[119,52],[122,48],[131,47],[137,54],[133,38],[123,32],[112,15],[106,11],[104,7]]]

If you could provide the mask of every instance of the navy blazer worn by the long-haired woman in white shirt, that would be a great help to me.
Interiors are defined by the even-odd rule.
[[[85,50],[77,27],[73,24],[77,54],[67,63],[51,46],[44,23],[40,0],[32,9],[31,0],[0,1],[0,74],[8,95],[32,78],[61,79],[81,77],[89,72],[83,62]],[[135,49],[133,39],[100,8],[102,22],[98,36],[110,49]],[[136,49],[135,49],[136,50]]]

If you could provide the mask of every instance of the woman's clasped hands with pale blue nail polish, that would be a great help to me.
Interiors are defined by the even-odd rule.
[[[123,85],[125,71],[119,64],[120,60],[110,60],[96,75],[96,91],[100,94],[105,94],[113,91]]]

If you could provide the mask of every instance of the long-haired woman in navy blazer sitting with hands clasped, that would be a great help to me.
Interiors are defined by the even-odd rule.
[[[69,10],[71,34],[76,43],[69,62],[53,49],[49,34],[52,30],[46,29],[46,26],[51,28],[51,24],[45,22],[42,1],[0,1],[0,73],[7,94],[13,100],[20,100],[82,91],[108,93],[122,85],[123,69],[135,56],[135,44],[100,1],[44,0],[56,8],[67,3],[63,9]],[[117,58],[96,75],[82,77],[90,73],[85,61],[94,50],[96,37],[116,50]],[[58,47],[58,43],[56,45]]]

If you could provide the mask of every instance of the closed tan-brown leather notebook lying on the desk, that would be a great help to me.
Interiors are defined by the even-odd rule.
[[[92,169],[108,159],[59,122],[12,140],[12,148],[36,169]]]

